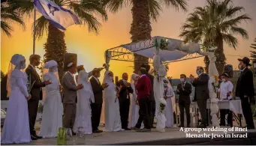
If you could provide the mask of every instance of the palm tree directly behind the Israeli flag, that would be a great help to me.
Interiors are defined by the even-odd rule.
[[[28,13],[32,16],[34,9],[32,0],[11,0],[13,4],[16,1],[23,1],[22,4],[18,4],[20,13]],[[93,31],[96,34],[99,32],[101,23],[98,21],[98,17],[102,20],[107,20],[107,11],[101,1],[98,0],[52,0],[56,4],[62,7],[67,7],[72,10],[79,18],[83,25],[87,25],[89,31]],[[16,4],[17,5],[17,4]],[[98,16],[98,17],[97,17]],[[38,39],[48,33],[47,43],[44,44],[44,62],[55,60],[59,65],[59,77],[62,79],[64,55],[67,52],[65,44],[65,33],[59,31],[54,27],[44,16],[39,17],[35,22],[35,35]]]

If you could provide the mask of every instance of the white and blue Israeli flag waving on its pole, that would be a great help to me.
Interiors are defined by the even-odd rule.
[[[51,0],[35,0],[34,5],[60,31],[65,31],[71,25],[81,24],[78,17],[71,10],[60,7]]]

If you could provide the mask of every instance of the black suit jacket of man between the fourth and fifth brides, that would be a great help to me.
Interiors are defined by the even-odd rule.
[[[134,90],[130,87],[126,87],[125,83],[120,80],[119,82],[117,82],[116,86],[120,87],[120,85],[122,85],[122,89],[121,91],[119,91],[119,102],[125,102],[126,100],[130,101],[130,94],[134,93]],[[128,99],[127,99],[128,96]]]

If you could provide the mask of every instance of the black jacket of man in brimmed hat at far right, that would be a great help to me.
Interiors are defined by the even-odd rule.
[[[248,68],[242,71],[236,83],[236,97],[254,97],[253,73]]]

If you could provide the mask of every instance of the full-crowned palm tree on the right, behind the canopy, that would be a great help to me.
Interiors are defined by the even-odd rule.
[[[180,37],[183,37],[185,42],[192,41],[203,43],[203,46],[217,46],[215,64],[218,73],[223,73],[226,60],[223,43],[236,49],[238,43],[234,37],[236,34],[248,39],[247,31],[240,28],[239,24],[251,18],[246,13],[239,14],[242,10],[244,10],[243,7],[234,6],[231,0],[207,0],[206,6],[196,7],[194,12],[190,13],[185,24],[182,25]]]

